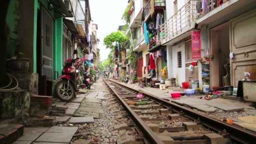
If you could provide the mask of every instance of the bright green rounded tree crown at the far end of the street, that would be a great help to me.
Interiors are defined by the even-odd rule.
[[[127,37],[123,34],[121,31],[111,32],[111,34],[104,37],[104,45],[106,45],[107,48],[110,48],[113,51],[117,48],[117,42],[119,42],[120,45],[123,45],[123,43],[127,40]]]

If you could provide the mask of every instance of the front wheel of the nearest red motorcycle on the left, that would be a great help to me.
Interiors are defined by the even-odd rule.
[[[60,80],[55,85],[55,92],[61,101],[68,102],[75,97],[75,88],[68,80]]]

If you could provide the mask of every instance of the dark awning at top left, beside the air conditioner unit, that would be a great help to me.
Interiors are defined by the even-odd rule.
[[[63,0],[49,0],[50,3],[53,5],[54,11],[64,14],[66,17],[74,17],[72,12],[67,11]]]

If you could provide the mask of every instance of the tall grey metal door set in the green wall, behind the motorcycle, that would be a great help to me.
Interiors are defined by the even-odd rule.
[[[43,7],[41,30],[41,75],[46,75],[47,80],[53,80],[53,19]]]

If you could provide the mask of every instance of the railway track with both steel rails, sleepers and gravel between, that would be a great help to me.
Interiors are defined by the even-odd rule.
[[[153,144],[252,144],[256,133],[229,125],[115,81],[104,79]],[[144,97],[137,99],[138,93]]]

